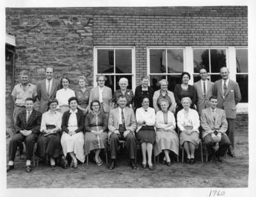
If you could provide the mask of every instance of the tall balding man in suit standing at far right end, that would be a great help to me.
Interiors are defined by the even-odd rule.
[[[236,105],[241,101],[241,92],[237,82],[230,80],[228,68],[220,69],[221,80],[214,83],[212,94],[218,97],[218,108],[224,109],[228,122],[227,135],[231,145],[228,147],[228,154],[236,157],[234,152],[234,129],[236,119]]]

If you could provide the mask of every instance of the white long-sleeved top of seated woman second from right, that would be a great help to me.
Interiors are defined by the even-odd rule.
[[[188,113],[184,109],[177,113],[177,125],[180,131],[185,131],[184,126],[193,126],[193,131],[199,133],[198,128],[200,127],[199,115],[196,110],[189,108]]]

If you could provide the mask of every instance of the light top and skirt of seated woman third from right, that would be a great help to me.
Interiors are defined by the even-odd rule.
[[[164,119],[164,113],[156,113],[156,145],[154,147],[157,156],[162,150],[171,150],[179,156],[179,137],[175,132],[175,117],[172,112],[167,112],[167,121]],[[164,131],[164,129],[168,129]]]

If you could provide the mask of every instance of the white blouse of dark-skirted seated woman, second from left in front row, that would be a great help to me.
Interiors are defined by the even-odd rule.
[[[40,131],[44,132],[46,130],[47,124],[55,125],[56,128],[61,129],[61,118],[62,118],[62,113],[57,111],[52,113],[49,110],[43,113]]]

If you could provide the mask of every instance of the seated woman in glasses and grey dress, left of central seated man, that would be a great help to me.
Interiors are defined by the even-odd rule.
[[[108,119],[104,113],[100,112],[100,101],[93,100],[90,104],[92,110],[85,117],[84,128],[84,152],[88,155],[91,150],[95,152],[95,162],[102,165],[100,150],[106,149],[108,143]]]

